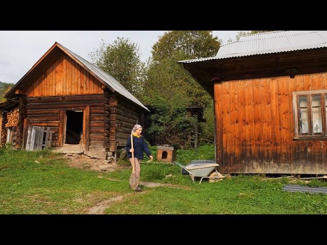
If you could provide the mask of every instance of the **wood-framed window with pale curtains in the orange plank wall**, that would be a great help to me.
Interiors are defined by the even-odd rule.
[[[327,139],[327,90],[293,92],[294,139]]]

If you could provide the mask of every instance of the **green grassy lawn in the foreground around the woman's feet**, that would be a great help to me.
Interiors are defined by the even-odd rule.
[[[155,156],[156,148],[151,148]],[[178,150],[177,161],[213,159],[213,145]],[[35,162],[38,161],[39,163]],[[163,162],[142,163],[141,181],[182,188],[143,186],[128,188],[130,169],[109,173],[71,168],[60,154],[0,149],[0,213],[87,213],[91,207],[114,197],[108,214],[320,214],[327,213],[327,195],[282,191],[290,179],[267,180],[261,175],[238,175],[221,182],[199,185],[181,175],[180,167]],[[170,175],[169,177],[167,177]],[[298,184],[326,186],[312,180]]]

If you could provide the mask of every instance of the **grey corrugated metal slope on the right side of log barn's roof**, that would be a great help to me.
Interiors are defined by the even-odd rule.
[[[84,58],[80,57],[79,55],[75,54],[74,52],[68,50],[68,48],[62,46],[60,43],[57,43],[60,47],[64,48],[69,54],[74,56],[77,60],[79,60],[83,65],[85,65],[88,69],[94,72],[95,75],[98,76],[103,82],[107,83],[114,91],[118,92],[119,94],[123,95],[127,99],[131,100],[132,102],[136,103],[137,105],[143,107],[144,109],[148,110],[141,102],[139,102],[127,89],[121,85],[117,80],[115,80],[112,76],[107,74],[103,69],[99,68],[98,66],[92,64],[91,62],[85,60]]]

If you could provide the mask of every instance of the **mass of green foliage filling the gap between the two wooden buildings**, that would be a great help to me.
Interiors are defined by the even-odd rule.
[[[154,110],[147,135],[156,143],[189,145],[196,118],[186,117],[187,107],[206,107],[212,99],[177,61],[215,56],[219,46],[211,31],[170,31],[153,45],[140,97]]]

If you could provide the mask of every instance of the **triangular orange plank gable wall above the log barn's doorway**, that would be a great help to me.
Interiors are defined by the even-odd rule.
[[[27,97],[103,94],[101,83],[71,57],[62,54],[27,89]]]

